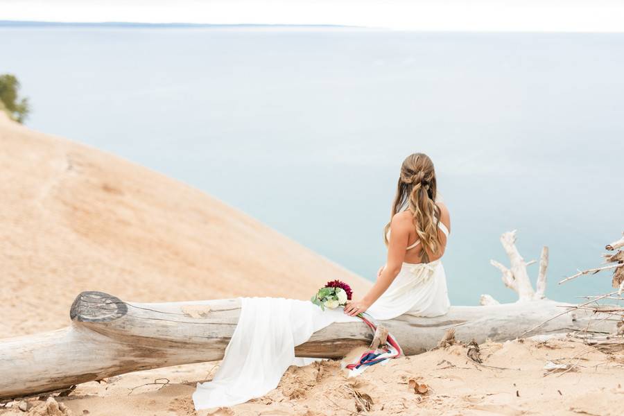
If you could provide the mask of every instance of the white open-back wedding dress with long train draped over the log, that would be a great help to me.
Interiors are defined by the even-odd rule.
[[[447,227],[439,224],[448,236]],[[404,313],[432,317],[444,315],[449,306],[446,276],[438,259],[430,263],[403,263],[399,275],[367,313],[375,320],[388,320]],[[313,361],[295,358],[295,346],[333,322],[360,319],[346,315],[342,308],[322,311],[309,301],[241,297],[239,322],[214,379],[198,383],[193,392],[196,410],[234,406],[266,395],[277,387],[289,366]],[[400,344],[401,340],[398,341]]]

